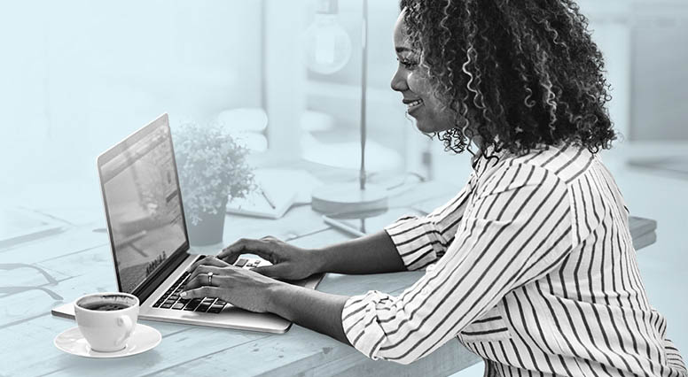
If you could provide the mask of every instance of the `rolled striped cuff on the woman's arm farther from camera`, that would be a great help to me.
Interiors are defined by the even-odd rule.
[[[425,268],[438,258],[444,245],[427,218],[403,218],[385,227],[409,271]]]

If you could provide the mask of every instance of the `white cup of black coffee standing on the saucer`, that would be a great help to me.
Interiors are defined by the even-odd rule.
[[[113,352],[127,347],[137,327],[138,298],[129,293],[94,293],[74,302],[76,324],[90,349]]]

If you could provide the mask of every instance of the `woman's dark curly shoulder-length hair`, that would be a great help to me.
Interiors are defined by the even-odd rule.
[[[476,134],[482,151],[611,148],[604,59],[574,0],[401,0],[400,8],[434,96],[457,114],[437,134],[446,150],[473,154]]]

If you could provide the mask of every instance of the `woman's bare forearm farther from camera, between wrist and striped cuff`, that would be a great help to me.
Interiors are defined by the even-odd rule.
[[[395,243],[380,231],[316,250],[321,273],[395,273],[406,271]]]

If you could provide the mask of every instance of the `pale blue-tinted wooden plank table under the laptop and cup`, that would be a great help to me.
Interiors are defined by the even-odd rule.
[[[442,202],[455,193],[456,188],[442,183],[423,183],[405,191],[402,189],[391,197],[390,206],[427,206]],[[120,359],[67,355],[57,350],[52,340],[75,324],[69,319],[52,317],[51,308],[90,292],[116,290],[110,246],[107,235],[102,232],[105,220],[98,207],[95,208],[72,213],[74,218],[82,220],[66,222],[57,235],[0,248],[0,264],[24,263],[39,267],[57,281],[51,284],[30,267],[15,268],[0,270],[4,276],[0,286],[8,286],[11,282],[12,286],[42,287],[64,298],[54,300],[35,289],[0,294],[0,375],[441,376],[479,361],[455,341],[416,363],[397,365],[372,361],[347,345],[296,325],[284,335],[270,335],[151,321],[142,322],[157,328],[163,336],[160,345],[153,350]],[[631,233],[637,249],[654,242],[655,227],[653,220],[632,220]],[[277,220],[228,216],[224,241],[269,234],[303,247],[317,247],[349,238],[326,226],[309,206],[300,206]],[[417,281],[421,274],[327,274],[318,289],[349,296],[370,289],[395,294]]]

